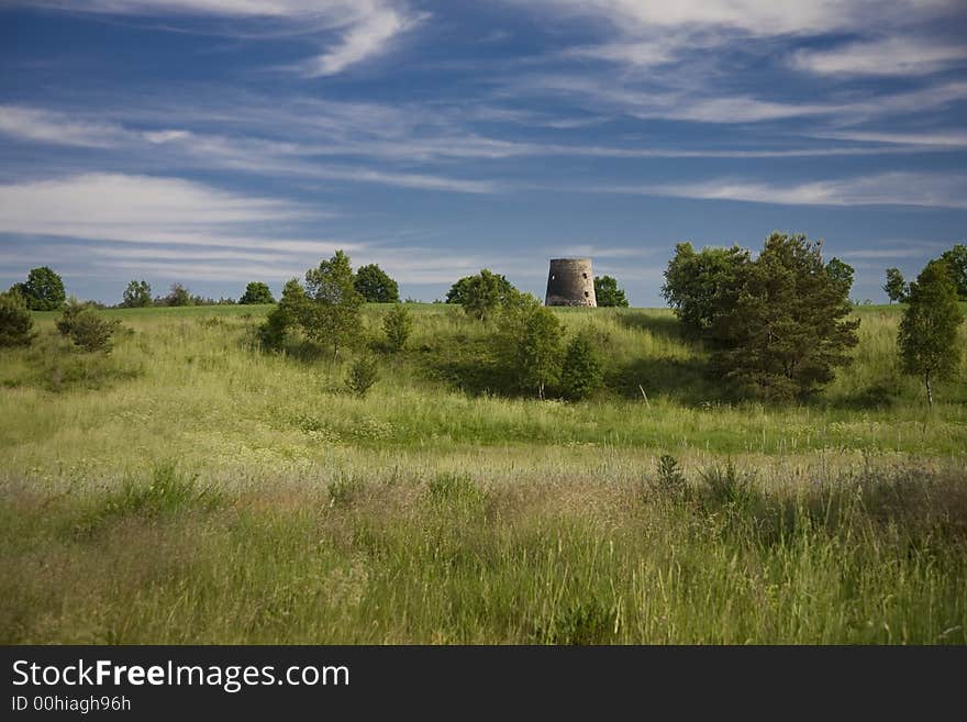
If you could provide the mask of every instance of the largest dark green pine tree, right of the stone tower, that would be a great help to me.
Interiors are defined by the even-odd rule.
[[[851,312],[845,264],[824,266],[822,243],[774,233],[743,264],[713,315],[713,362],[738,388],[771,399],[802,397],[849,363],[858,320]],[[851,269],[852,271],[852,269]]]

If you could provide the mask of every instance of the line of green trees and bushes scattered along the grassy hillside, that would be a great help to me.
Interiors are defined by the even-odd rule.
[[[662,293],[683,335],[708,348],[710,371],[726,381],[734,396],[793,400],[813,395],[851,363],[860,323],[851,316],[853,275],[843,260],[823,259],[821,242],[774,233],[755,257],[738,246],[696,251],[690,243],[678,244]],[[614,278],[597,277],[594,286],[600,306],[627,306]],[[910,284],[898,269],[888,269],[883,289],[891,302],[907,304],[897,340],[900,366],[922,379],[933,403],[934,382],[959,368],[957,329],[964,316],[958,298],[967,300],[967,246],[955,245],[931,260]],[[149,284],[132,280],[120,306],[205,302],[213,301],[192,296],[179,284],[168,296],[152,298]],[[266,284],[253,281],[237,302],[270,304],[275,298]],[[259,329],[260,342],[281,349],[299,334],[329,347],[337,358],[344,348],[358,345],[365,302],[394,303],[384,321],[385,347],[402,351],[412,320],[400,303],[397,282],[375,264],[354,271],[342,251],[309,269],[304,281],[293,278],[286,284]],[[519,392],[577,399],[600,386],[600,352],[590,337],[576,334],[565,344],[557,316],[504,276],[482,269],[460,278],[447,291],[446,302],[459,304],[491,329],[494,354]],[[49,267],[31,270],[26,281],[0,295],[0,346],[29,344],[30,311],[57,309],[64,311],[60,333],[88,351],[110,348],[118,324],[98,316],[97,304],[66,300],[63,280]],[[352,373],[356,386],[368,388],[375,375],[375,362],[364,354]]]

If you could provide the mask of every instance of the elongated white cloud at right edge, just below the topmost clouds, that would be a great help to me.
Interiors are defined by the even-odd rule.
[[[791,65],[798,70],[827,76],[919,76],[967,62],[967,45],[936,37],[886,37],[830,49],[800,49]]]

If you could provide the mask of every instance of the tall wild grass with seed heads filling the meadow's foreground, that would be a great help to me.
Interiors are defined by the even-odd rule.
[[[9,490],[0,641],[967,642],[963,477],[736,495],[723,474],[691,475],[685,499],[645,475],[384,476],[147,507]]]

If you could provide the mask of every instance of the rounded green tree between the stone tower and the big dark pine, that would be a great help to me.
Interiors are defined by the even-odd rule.
[[[738,246],[699,253],[690,243],[675,246],[662,295],[686,333],[701,336],[709,331],[720,309],[734,302],[740,276],[748,264],[748,251]]]

